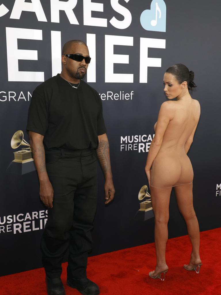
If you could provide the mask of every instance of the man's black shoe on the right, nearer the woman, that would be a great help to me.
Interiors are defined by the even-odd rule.
[[[67,277],[67,286],[77,289],[83,295],[100,294],[98,285],[90,281],[88,278],[75,279]]]

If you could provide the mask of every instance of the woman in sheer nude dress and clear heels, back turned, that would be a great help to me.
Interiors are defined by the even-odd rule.
[[[165,250],[172,187],[192,243],[190,261],[184,268],[199,273],[202,265],[199,224],[193,208],[193,169],[187,156],[200,116],[199,102],[192,99],[188,91],[196,87],[193,78],[194,73],[183,64],[172,65],[166,70],[164,91],[169,100],[161,105],[145,166],[155,215],[156,268],[149,276],[161,280],[168,271]],[[174,98],[177,100],[171,101]]]

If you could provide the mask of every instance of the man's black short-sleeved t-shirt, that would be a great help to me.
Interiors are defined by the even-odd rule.
[[[26,129],[44,135],[45,150],[95,149],[106,132],[100,96],[84,81],[72,88],[57,74],[34,90]]]

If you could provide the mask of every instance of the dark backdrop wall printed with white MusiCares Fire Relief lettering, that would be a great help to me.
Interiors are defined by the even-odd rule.
[[[32,92],[60,73],[61,48],[72,39],[89,47],[85,81],[103,103],[116,188],[114,202],[105,206],[99,168],[91,255],[154,241],[144,166],[166,100],[163,75],[175,63],[194,71],[192,97],[201,104],[188,154],[200,230],[220,227],[220,11],[218,0],[0,1],[0,275],[42,266],[39,241],[47,208],[39,200],[33,162],[22,148],[28,148]],[[186,234],[172,192],[169,237]]]

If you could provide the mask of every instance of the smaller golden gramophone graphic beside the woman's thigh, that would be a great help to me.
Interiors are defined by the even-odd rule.
[[[135,215],[135,219],[139,220],[147,220],[152,217],[154,217],[154,212],[152,208],[152,203],[151,203],[151,195],[147,191],[147,186],[144,185],[141,187],[139,194],[138,194],[138,200],[143,200],[144,198],[147,198],[145,201],[140,203],[140,209],[137,211]]]

